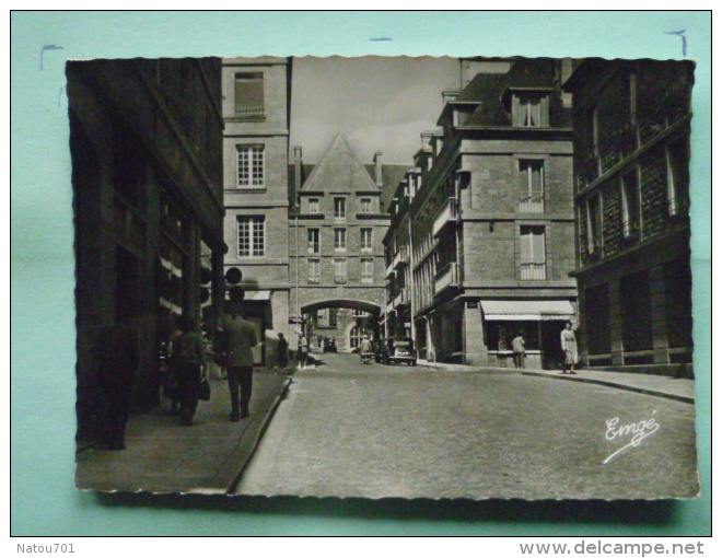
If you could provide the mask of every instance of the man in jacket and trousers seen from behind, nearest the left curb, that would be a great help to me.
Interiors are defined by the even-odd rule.
[[[249,403],[253,392],[253,352],[258,345],[254,325],[241,315],[243,290],[231,289],[230,314],[223,321],[223,341],[231,391],[231,421],[238,422],[251,416]],[[238,390],[241,391],[238,397]]]

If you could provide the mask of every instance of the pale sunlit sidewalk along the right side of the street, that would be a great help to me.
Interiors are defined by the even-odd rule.
[[[465,364],[446,364],[443,362],[418,361],[419,367],[447,372],[489,372],[496,374],[523,374],[531,376],[545,376],[569,382],[585,382],[591,384],[616,387],[628,392],[637,392],[656,397],[666,397],[682,403],[695,403],[695,381],[675,379],[654,374],[639,374],[633,372],[612,372],[603,370],[578,370],[575,375],[561,374],[560,370],[516,370],[513,368],[469,367]]]

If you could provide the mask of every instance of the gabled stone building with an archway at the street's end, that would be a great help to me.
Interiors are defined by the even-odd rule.
[[[316,335],[335,338],[339,350],[348,350],[361,330],[377,335],[375,324],[386,299],[381,240],[388,213],[382,211],[382,154],[375,155],[372,178],[337,136],[302,182],[301,150],[295,153],[298,207],[290,216],[288,242],[294,284],[290,313],[315,324]]]

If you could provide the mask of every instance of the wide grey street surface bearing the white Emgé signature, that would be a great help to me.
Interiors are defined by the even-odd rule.
[[[294,375],[236,493],[688,498],[694,421],[692,405],[593,384],[325,354]],[[617,433],[632,423],[637,445]]]

